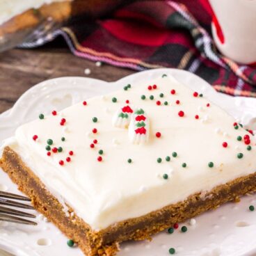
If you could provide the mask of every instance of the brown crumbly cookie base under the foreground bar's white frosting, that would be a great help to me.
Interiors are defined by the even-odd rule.
[[[67,216],[63,205],[47,191],[40,179],[10,147],[3,150],[0,166],[19,186],[19,190],[31,198],[35,209],[44,214],[67,237],[77,242],[88,256],[115,255],[122,241],[150,239],[152,234],[165,230],[174,223],[183,222],[225,202],[237,200],[241,195],[256,191],[256,174],[253,173],[216,186],[207,193],[195,193],[182,202],[95,232],[76,214],[72,214],[71,207]]]

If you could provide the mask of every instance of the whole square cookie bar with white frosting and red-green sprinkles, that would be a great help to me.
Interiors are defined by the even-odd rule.
[[[163,75],[41,113],[1,167],[88,256],[115,255],[256,189],[253,134]]]

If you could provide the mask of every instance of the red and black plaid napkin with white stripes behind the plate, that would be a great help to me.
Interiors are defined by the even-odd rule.
[[[134,70],[177,67],[222,93],[256,97],[256,65],[239,65],[217,51],[211,17],[207,0],[135,1],[94,22],[77,19],[22,47],[38,47],[62,35],[82,58]]]

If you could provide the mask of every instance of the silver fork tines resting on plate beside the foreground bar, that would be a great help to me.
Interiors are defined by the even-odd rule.
[[[33,209],[31,205],[26,205],[22,202],[16,202],[14,200],[20,200],[25,202],[30,202],[29,198],[26,198],[22,195],[15,195],[13,193],[7,193],[0,191],[0,221],[8,221],[19,224],[26,225],[38,225],[33,221],[26,220],[25,218],[35,218],[36,216],[33,214],[29,214],[25,211],[18,211],[16,209],[12,209],[9,207],[17,207],[22,209]],[[8,207],[3,207],[2,205],[6,205]],[[25,217],[19,218],[17,216]]]

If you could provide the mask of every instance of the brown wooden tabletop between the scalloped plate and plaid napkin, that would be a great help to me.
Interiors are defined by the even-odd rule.
[[[84,73],[86,68],[90,68],[90,75]],[[12,49],[0,54],[0,113],[45,79],[79,76],[115,81],[132,73],[107,64],[96,67],[94,62],[72,55],[61,39],[39,49]]]

